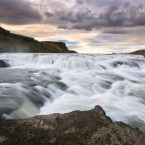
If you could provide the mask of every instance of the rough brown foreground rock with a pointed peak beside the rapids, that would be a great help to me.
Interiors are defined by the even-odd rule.
[[[96,106],[90,111],[0,121],[1,145],[145,145],[145,135],[115,122]]]

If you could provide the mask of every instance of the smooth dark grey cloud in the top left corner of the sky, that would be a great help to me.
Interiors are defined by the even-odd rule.
[[[0,22],[6,24],[39,23],[42,16],[25,0],[0,0]]]

